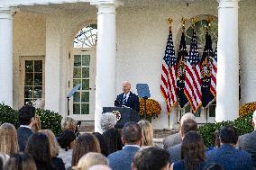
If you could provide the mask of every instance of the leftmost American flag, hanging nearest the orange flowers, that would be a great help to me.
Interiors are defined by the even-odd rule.
[[[169,38],[167,40],[161,68],[160,92],[165,99],[167,112],[169,114],[172,107],[177,103],[176,58],[171,28],[169,28]]]

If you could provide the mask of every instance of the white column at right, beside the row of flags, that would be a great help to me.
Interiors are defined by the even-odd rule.
[[[238,2],[218,0],[218,62],[215,121],[239,116]]]

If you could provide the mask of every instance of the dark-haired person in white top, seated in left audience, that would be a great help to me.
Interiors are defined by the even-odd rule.
[[[68,169],[71,166],[72,152],[75,144],[76,134],[73,130],[64,130],[59,135],[59,158],[64,162],[65,168]]]

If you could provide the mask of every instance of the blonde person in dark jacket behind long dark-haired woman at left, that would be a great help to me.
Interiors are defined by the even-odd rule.
[[[59,155],[59,145],[56,141],[56,137],[54,133],[51,130],[39,130],[39,132],[45,134],[50,143],[50,157],[51,157],[51,162],[52,165],[57,169],[57,170],[65,170],[64,163],[61,158],[58,157]]]

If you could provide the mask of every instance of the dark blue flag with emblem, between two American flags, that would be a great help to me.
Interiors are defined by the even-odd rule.
[[[178,58],[177,58],[177,95],[179,106],[183,108],[187,103],[187,96],[184,94],[185,86],[185,67],[186,67],[186,58],[187,58],[187,47],[185,40],[185,33],[182,32],[179,49],[178,49]]]

